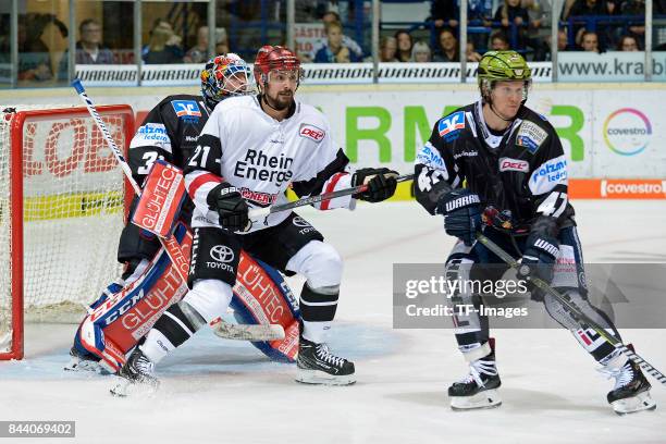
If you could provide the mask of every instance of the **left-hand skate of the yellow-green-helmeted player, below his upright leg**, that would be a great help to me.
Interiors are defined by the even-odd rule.
[[[498,407],[502,399],[497,394],[497,388],[502,385],[497,367],[495,366],[495,350],[489,343],[483,344],[478,350],[471,351],[474,355],[490,351],[479,359],[473,359],[469,363],[469,374],[454,382],[448,387],[451,408],[454,410],[470,410],[478,408]],[[469,359],[469,357],[466,357]]]

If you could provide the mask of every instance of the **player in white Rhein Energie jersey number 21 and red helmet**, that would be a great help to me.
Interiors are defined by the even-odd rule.
[[[296,381],[355,382],[354,363],[332,355],[325,344],[342,278],[338,254],[294,212],[249,220],[248,209],[285,201],[289,185],[304,197],[367,184],[367,192],[317,205],[322,210],[353,209],[356,199],[390,198],[398,174],[385,168],[347,172],[349,160],[334,144],[326,118],[294,99],[301,77],[292,51],[262,47],[255,62],[260,94],[225,100],[203,127],[185,166],[195,203],[192,291],[166,310],[166,322],[148,333],[121,369],[120,375],[130,382],[157,384],[153,365],[226,311],[242,248],[278,270],[307,279],[300,293]]]

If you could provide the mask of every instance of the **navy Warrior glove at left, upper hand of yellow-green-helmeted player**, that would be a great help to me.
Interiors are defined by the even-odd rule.
[[[437,214],[444,214],[444,231],[470,246],[481,227],[481,199],[468,189],[452,189],[437,202]]]

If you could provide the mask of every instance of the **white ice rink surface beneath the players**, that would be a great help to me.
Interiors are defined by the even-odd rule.
[[[587,262],[666,262],[665,201],[574,205]],[[443,262],[441,218],[415,202],[299,213],[345,260],[330,343],[355,385],[297,384],[294,366],[205,331],[160,363],[152,397],[114,398],[112,377],[62,371],[74,325],[28,325],[26,359],[0,362],[0,420],[76,421],[76,439],[45,443],[666,443],[666,387],[651,380],[656,411],[616,416],[613,382],[564,330],[494,330],[504,404],[452,411],[467,372],[453,333],[392,329],[393,263]],[[666,330],[622,334],[666,370]]]

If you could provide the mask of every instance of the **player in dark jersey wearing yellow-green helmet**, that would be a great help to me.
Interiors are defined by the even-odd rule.
[[[446,233],[458,237],[446,262],[447,280],[502,278],[502,260],[476,242],[476,232],[482,230],[521,259],[519,279],[529,283],[538,276],[552,283],[619,338],[608,317],[588,300],[582,250],[567,197],[567,160],[553,126],[525,106],[529,66],[515,51],[491,51],[479,63],[478,81],[481,100],[435,123],[415,168],[417,200],[431,214],[443,214]],[[556,263],[575,267],[567,270]],[[543,301],[548,314],[602,365],[600,370],[615,378],[607,400],[616,412],[655,408],[638,365],[581,328],[552,296],[533,291],[532,298]],[[466,291],[452,300],[477,309],[482,303],[480,295]],[[488,317],[464,312],[454,308],[454,332],[470,372],[448,388],[452,408],[498,406],[501,380]]]

